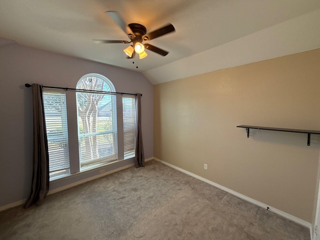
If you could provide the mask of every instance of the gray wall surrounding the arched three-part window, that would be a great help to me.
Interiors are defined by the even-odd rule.
[[[19,44],[0,45],[0,206],[26,198],[31,185],[32,89],[26,88],[24,83],[74,88],[79,78],[87,73],[106,76],[116,91],[142,93],[144,154],[145,158],[153,156],[153,87],[141,73]],[[105,171],[131,162],[111,165]],[[97,173],[93,171],[58,181],[51,184],[50,189]]]

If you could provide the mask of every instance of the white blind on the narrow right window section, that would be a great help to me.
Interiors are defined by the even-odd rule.
[[[135,155],[135,96],[123,96],[124,159]]]

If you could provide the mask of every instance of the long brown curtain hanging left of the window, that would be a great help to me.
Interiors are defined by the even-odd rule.
[[[32,84],[33,101],[33,174],[32,185],[24,208],[41,205],[49,189],[49,153],[45,129],[42,85]]]

